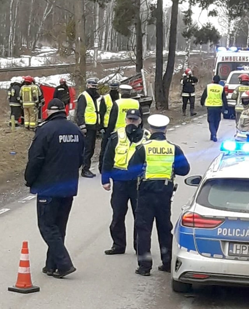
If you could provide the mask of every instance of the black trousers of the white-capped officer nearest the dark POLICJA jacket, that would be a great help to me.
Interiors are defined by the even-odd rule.
[[[87,129],[86,137],[84,139],[85,142],[84,163],[83,163],[84,171],[89,170],[91,167],[91,158],[94,155],[96,137],[97,137],[97,130]]]

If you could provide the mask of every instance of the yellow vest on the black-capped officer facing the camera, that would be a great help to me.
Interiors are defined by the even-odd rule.
[[[136,147],[141,145],[141,143],[146,142],[147,136],[146,131],[144,131],[143,138],[137,143],[131,143],[129,138],[127,137],[125,128],[117,129],[118,134],[118,143],[115,148],[115,157],[114,157],[114,168],[118,168],[120,170],[127,170],[129,161],[131,157],[134,155]],[[149,138],[149,137],[148,137]]]

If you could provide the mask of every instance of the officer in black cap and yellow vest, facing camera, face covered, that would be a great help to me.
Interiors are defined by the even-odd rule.
[[[122,254],[126,248],[125,215],[128,210],[128,201],[131,202],[133,216],[137,205],[136,176],[130,178],[127,172],[129,159],[135,152],[135,147],[146,141],[146,133],[141,128],[141,114],[138,109],[129,109],[126,118],[126,127],[119,128],[112,133],[106,146],[103,167],[102,185],[107,191],[111,190],[110,179],[113,180],[111,205],[113,210],[110,232],[113,245],[105,254]],[[134,250],[136,245],[136,230],[134,227]]]

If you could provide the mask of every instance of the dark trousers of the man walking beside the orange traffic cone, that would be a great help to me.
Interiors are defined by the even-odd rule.
[[[73,263],[64,245],[73,197],[37,197],[38,227],[48,245],[46,268],[68,270]]]

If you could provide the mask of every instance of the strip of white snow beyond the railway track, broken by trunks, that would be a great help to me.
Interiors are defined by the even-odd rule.
[[[0,58],[0,69],[1,68],[11,68],[11,67],[25,67],[25,66],[49,66],[55,64],[67,64],[65,61],[60,61],[57,55],[57,49],[53,47],[42,47],[40,49],[35,50],[35,56],[26,56],[23,55],[19,58]],[[199,54],[199,50],[192,51],[191,54]],[[91,61],[94,56],[94,50],[90,49],[87,51],[89,58],[87,61]],[[168,51],[164,50],[163,55],[167,56]],[[183,51],[176,52],[177,56],[184,56]],[[155,57],[155,51],[148,51],[145,57]],[[98,60],[105,61],[105,60],[116,60],[116,59],[131,59],[135,58],[133,52],[130,51],[120,51],[120,52],[107,52],[107,51],[99,51],[98,52]]]

